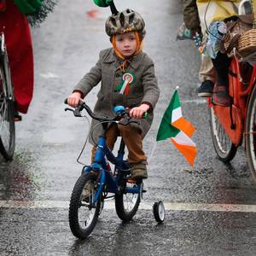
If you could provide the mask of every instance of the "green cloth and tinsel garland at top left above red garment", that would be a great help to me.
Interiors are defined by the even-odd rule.
[[[52,12],[58,0],[15,0],[16,6],[31,26],[39,26],[49,12]]]

